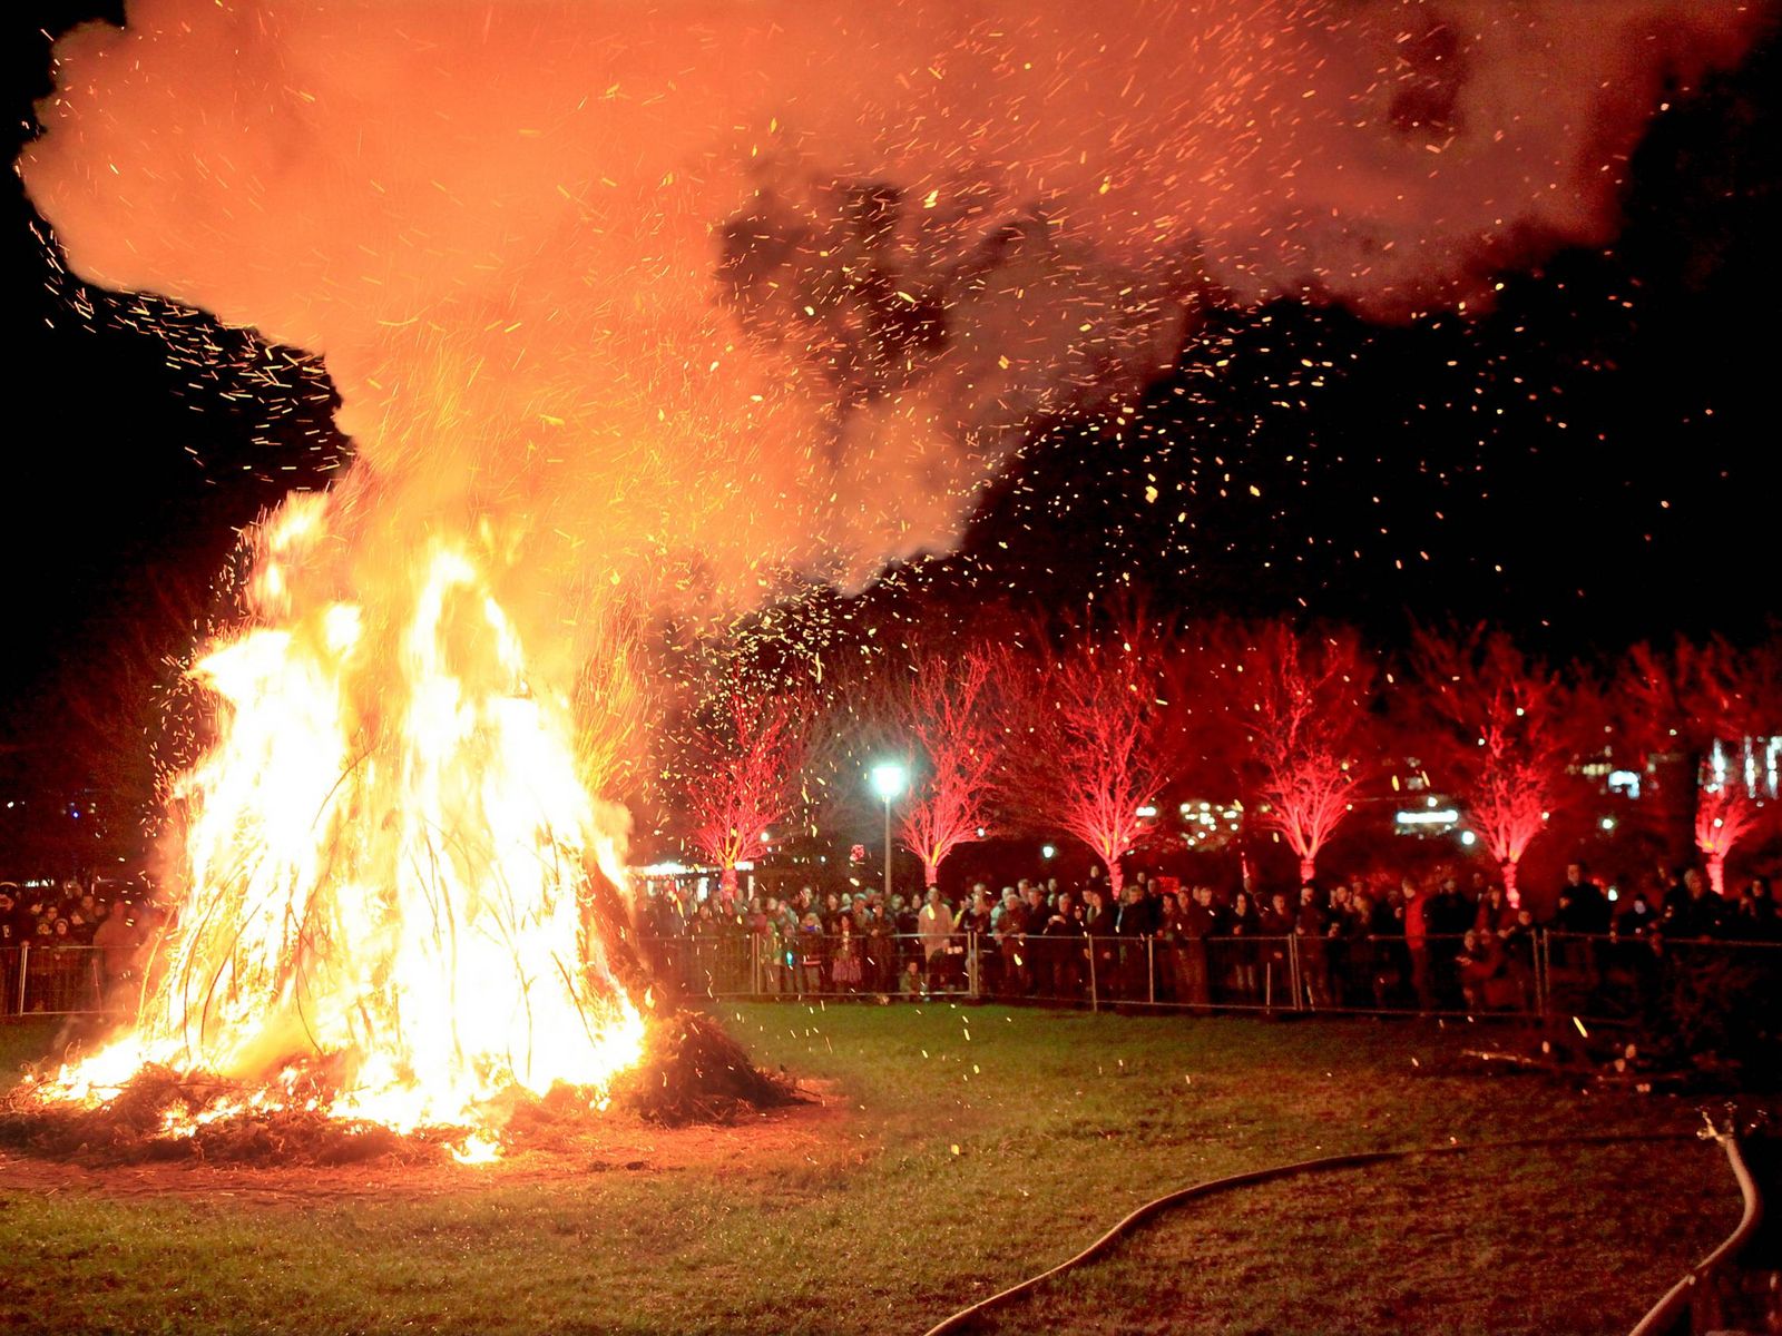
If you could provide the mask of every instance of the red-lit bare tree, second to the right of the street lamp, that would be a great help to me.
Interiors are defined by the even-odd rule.
[[[1012,730],[1025,736],[1010,791],[1032,818],[1087,844],[1116,894],[1124,882],[1121,859],[1153,828],[1139,809],[1181,766],[1164,695],[1169,631],[1142,611],[1121,620],[1062,654],[1041,648],[1026,672],[1010,675],[1009,691]]]

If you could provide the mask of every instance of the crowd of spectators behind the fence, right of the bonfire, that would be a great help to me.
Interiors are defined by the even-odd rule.
[[[1499,1010],[1533,1001],[1536,933],[1557,967],[1593,974],[1663,942],[1782,941],[1764,878],[1716,894],[1700,869],[1659,869],[1607,892],[1568,866],[1536,914],[1483,875],[1221,892],[1133,875],[1119,891],[1018,880],[960,898],[813,885],[699,900],[654,885],[643,933],[659,969],[695,992],[903,994],[1169,1001],[1228,1006]],[[1629,955],[1632,953],[1632,955]],[[1782,953],[1777,955],[1782,962]]]

